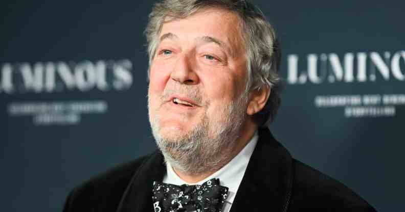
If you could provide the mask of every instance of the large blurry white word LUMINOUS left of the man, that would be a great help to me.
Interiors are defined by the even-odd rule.
[[[124,90],[132,86],[132,63],[121,61],[82,61],[5,63],[0,70],[0,93],[61,92],[65,89],[89,91],[111,88]]]

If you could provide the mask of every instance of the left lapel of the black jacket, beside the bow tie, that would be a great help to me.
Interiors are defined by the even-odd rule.
[[[166,172],[163,155],[156,150],[146,158],[138,171],[133,175],[117,212],[151,212],[153,181],[162,181]]]

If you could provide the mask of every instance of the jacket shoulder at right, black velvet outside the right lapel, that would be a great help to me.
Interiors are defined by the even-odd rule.
[[[290,211],[375,211],[363,198],[335,180],[308,165],[293,160],[294,182]]]

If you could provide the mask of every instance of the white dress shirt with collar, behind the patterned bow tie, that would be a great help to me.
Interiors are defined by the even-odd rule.
[[[240,182],[242,181],[244,172],[246,171],[247,164],[249,163],[250,157],[252,156],[253,150],[255,149],[258,138],[259,136],[256,131],[249,143],[247,143],[247,145],[227,165],[223,166],[221,169],[219,169],[209,177],[196,183],[187,183],[186,181],[181,179],[173,171],[170,164],[167,163],[167,172],[166,175],[163,177],[163,182],[175,184],[177,186],[181,186],[182,184],[201,185],[211,178],[219,178],[221,186],[229,188],[228,198],[222,208],[222,212],[229,212],[235,199],[236,192],[238,192],[238,188]]]

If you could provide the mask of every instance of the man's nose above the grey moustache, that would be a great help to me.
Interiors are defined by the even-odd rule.
[[[198,83],[198,75],[195,72],[193,61],[187,57],[179,57],[170,74],[172,80],[186,85],[195,85]]]

